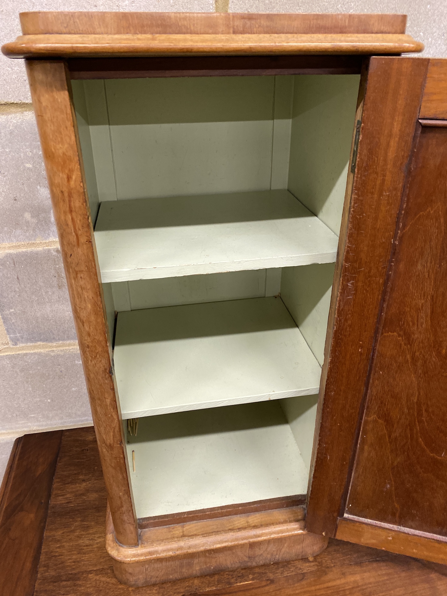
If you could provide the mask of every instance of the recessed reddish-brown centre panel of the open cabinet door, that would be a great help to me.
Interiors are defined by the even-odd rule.
[[[447,536],[447,130],[421,128],[346,511]]]

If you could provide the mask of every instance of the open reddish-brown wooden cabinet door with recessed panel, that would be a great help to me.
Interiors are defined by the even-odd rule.
[[[428,67],[371,58],[362,79],[306,529],[446,563],[447,129],[418,122]]]

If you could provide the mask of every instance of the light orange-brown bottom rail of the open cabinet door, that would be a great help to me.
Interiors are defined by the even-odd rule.
[[[365,522],[367,520],[358,521],[355,517],[341,518],[337,527],[337,538],[409,557],[427,559],[434,563],[447,563],[447,542],[401,532],[398,526],[386,527]]]

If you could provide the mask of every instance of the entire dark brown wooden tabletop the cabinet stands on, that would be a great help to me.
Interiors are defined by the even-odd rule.
[[[14,500],[0,514],[0,527],[4,530],[0,544],[2,596],[25,593],[34,596],[443,596],[447,593],[446,566],[334,539],[330,539],[325,551],[311,559],[129,588],[114,578],[112,560],[105,550],[107,495],[94,430],[37,433],[24,439],[27,449],[17,458],[12,482],[8,484]],[[49,473],[42,473],[47,467]],[[33,515],[33,508],[43,508],[44,512],[40,517]],[[39,522],[41,533],[35,533]]]

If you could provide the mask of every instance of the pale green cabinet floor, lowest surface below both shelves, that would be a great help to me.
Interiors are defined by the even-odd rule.
[[[128,440],[138,518],[307,490],[309,470],[278,402],[142,418]]]

